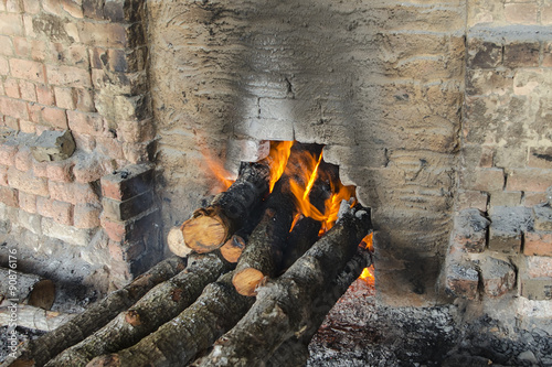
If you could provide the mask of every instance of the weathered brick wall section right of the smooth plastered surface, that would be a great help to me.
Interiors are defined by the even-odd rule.
[[[545,1],[468,7],[459,212],[447,268],[455,295],[552,300],[544,270],[552,268],[551,10]]]

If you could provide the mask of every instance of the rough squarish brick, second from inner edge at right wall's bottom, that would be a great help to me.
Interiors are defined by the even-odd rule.
[[[479,263],[484,292],[489,296],[500,296],[516,287],[516,269],[512,265],[487,257]]]

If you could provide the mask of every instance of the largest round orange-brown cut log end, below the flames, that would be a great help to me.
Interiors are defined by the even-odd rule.
[[[182,224],[184,246],[195,252],[205,253],[224,245],[229,228],[217,215],[198,216]]]

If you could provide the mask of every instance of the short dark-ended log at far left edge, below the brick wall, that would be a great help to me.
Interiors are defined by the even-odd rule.
[[[4,299],[50,310],[55,299],[55,285],[36,274],[0,268],[0,302]]]

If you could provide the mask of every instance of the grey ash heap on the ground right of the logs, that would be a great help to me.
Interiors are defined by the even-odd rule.
[[[488,315],[461,321],[457,306],[386,307],[357,280],[309,345],[309,367],[552,366],[552,335],[506,327]]]

